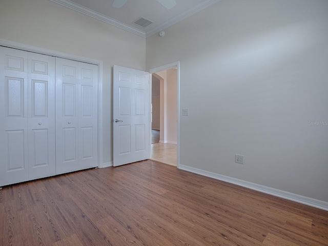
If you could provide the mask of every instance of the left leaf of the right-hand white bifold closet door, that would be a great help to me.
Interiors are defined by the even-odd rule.
[[[56,58],[56,174],[79,170],[77,61]]]

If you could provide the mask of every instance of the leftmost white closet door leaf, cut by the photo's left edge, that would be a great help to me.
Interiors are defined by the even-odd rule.
[[[0,47],[0,186],[28,180],[27,55]]]

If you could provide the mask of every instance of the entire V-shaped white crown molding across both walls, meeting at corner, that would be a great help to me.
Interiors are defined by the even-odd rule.
[[[103,14],[100,14],[96,11],[93,11],[91,9],[88,9],[84,6],[81,6],[79,4],[76,4],[76,3],[73,3],[71,1],[68,1],[68,0],[49,0],[50,2],[53,2],[53,3],[56,3],[56,4],[59,4],[61,6],[64,6],[64,7],[67,7],[69,9],[72,9],[72,10],[75,10],[79,13],[83,13],[85,15],[88,15],[92,18],[95,18],[95,19],[98,19],[100,20],[100,22],[105,22],[107,24],[110,24],[110,25],[113,25],[115,27],[118,27],[118,28],[121,28],[123,30],[126,30],[126,31],[129,31],[129,32],[132,32],[136,35],[139,35],[141,37],[149,37],[153,34],[155,34],[156,32],[159,32],[159,31],[162,31],[163,29],[166,29],[178,22],[180,22],[181,20],[203,10],[203,9],[206,9],[210,6],[212,6],[213,4],[216,4],[218,2],[220,2],[221,0],[207,0],[207,1],[204,1],[202,3],[200,3],[199,5],[195,6],[194,8],[192,9],[189,9],[173,18],[171,18],[170,20],[168,20],[167,22],[157,26],[156,28],[153,28],[151,29],[150,31],[148,32],[144,32],[144,31],[140,31],[139,29],[136,29],[134,27],[131,27],[127,24],[124,24],[124,23],[121,23],[119,22],[118,20],[116,19],[113,19],[111,17],[108,17],[106,15],[103,15]]]

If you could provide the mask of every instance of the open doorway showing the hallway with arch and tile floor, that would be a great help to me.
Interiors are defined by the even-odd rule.
[[[152,141],[150,159],[178,167],[179,63],[152,71]],[[159,121],[159,122],[158,122]],[[159,130],[159,142],[156,134]]]

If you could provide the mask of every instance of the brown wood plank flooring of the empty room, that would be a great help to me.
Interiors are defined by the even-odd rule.
[[[0,245],[328,245],[328,212],[150,160],[0,190]]]

